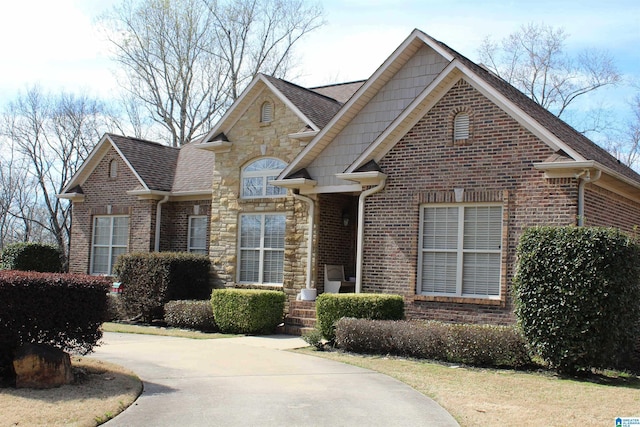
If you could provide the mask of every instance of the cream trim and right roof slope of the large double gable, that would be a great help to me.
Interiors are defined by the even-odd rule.
[[[346,173],[356,171],[369,161],[380,161],[382,156],[417,123],[455,82],[464,78],[555,151],[568,154],[576,162],[594,160],[617,174],[640,184],[640,175],[622,165],[606,150],[536,104],[503,79],[419,30],[414,30],[411,33],[330,121],[327,127],[283,171],[279,178],[286,178],[290,173],[301,168],[312,170],[313,168],[309,167],[312,162],[333,143],[336,136],[374,99],[391,77],[409,61],[409,58],[416,54],[420,46],[424,45],[442,55],[444,59],[449,61],[449,65],[435,80],[426,85],[424,90],[417,94],[401,114],[395,117],[389,126],[361,152],[360,156],[345,169]],[[314,179],[318,178],[314,176]]]

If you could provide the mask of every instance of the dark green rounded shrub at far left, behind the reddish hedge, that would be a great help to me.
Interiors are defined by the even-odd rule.
[[[2,270],[38,271],[59,273],[62,271],[60,250],[44,243],[12,243],[2,251]]]

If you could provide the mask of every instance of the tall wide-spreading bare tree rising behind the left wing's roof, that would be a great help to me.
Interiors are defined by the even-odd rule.
[[[102,22],[122,86],[178,146],[206,131],[257,72],[284,76],[321,15],[304,0],[142,0]]]

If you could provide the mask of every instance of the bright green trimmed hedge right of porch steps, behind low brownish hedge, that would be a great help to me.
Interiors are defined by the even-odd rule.
[[[322,294],[316,300],[318,328],[329,341],[335,338],[335,323],[342,317],[400,320],[404,300],[388,294]]]

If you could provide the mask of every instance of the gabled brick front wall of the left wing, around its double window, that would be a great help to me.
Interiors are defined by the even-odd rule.
[[[118,162],[118,174],[109,177],[109,163]],[[155,230],[154,200],[138,200],[128,190],[140,185],[119,155],[110,148],[93,173],[82,184],[84,202],[73,203],[69,271],[89,273],[91,236],[95,215],[129,215],[129,251],[147,252],[153,249]]]

